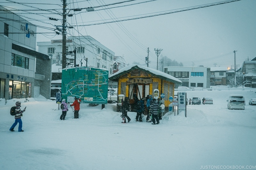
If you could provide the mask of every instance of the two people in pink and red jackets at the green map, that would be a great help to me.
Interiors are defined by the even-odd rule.
[[[70,105],[70,106],[74,106],[74,119],[79,118],[80,102],[81,102],[81,99],[75,97],[75,101],[73,102],[72,105]],[[60,120],[65,120],[69,103],[66,103],[66,99],[63,99],[61,104],[63,104],[63,108],[61,109],[62,114],[60,115]]]

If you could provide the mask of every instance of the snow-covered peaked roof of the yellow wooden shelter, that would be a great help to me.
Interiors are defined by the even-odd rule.
[[[116,73],[112,74],[108,79],[110,81],[115,81],[115,79],[118,79],[121,74],[125,74],[129,71],[139,69],[139,70],[145,70],[146,72],[150,72],[152,75],[155,75],[156,77],[159,77],[161,79],[164,79],[166,81],[172,82],[172,83],[177,83],[177,84],[182,84],[182,81],[180,81],[178,78],[175,78],[167,73],[164,73],[159,70],[155,70],[149,67],[141,66],[141,65],[136,65],[136,64],[131,64],[128,66],[125,66],[124,68],[120,69]]]

